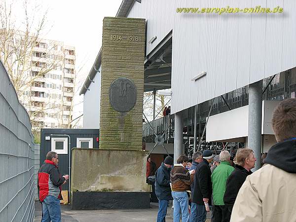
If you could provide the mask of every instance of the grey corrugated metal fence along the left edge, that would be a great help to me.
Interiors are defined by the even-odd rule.
[[[34,137],[0,62],[0,222],[34,220]]]

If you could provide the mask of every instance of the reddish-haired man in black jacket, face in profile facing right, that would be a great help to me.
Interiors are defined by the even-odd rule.
[[[230,215],[240,187],[245,182],[247,176],[252,174],[251,169],[255,167],[256,158],[254,157],[253,150],[249,148],[238,149],[236,161],[237,165],[235,165],[234,171],[227,179],[223,197],[223,202],[228,208]],[[230,218],[228,221],[230,221]]]

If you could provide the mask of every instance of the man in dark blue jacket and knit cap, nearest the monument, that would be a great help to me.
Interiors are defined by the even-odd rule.
[[[169,200],[173,200],[170,186],[170,173],[172,165],[174,165],[173,157],[167,156],[155,173],[155,194],[159,201],[156,222],[165,222],[168,202]]]

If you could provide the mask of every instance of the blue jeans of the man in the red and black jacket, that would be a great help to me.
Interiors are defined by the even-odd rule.
[[[42,201],[41,222],[61,222],[60,200],[55,196],[47,196]]]

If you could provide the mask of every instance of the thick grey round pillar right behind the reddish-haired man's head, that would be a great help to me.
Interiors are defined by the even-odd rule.
[[[261,167],[262,80],[249,85],[248,148],[257,158],[255,171]]]

